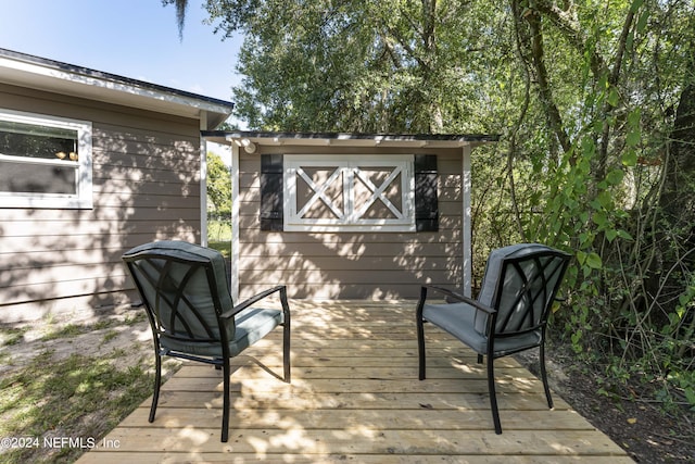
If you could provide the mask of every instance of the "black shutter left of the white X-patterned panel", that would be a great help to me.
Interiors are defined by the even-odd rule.
[[[282,155],[261,155],[261,230],[282,231]]]

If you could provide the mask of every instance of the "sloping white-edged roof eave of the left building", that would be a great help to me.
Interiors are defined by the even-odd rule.
[[[233,103],[0,48],[0,83],[222,124]]]

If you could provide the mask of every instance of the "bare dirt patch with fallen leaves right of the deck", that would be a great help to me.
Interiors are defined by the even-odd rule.
[[[535,350],[516,358],[539,375]],[[695,414],[692,411],[683,406],[667,414],[658,403],[644,399],[646,396],[628,400],[601,394],[591,368],[578,366],[574,356],[563,349],[549,348],[546,363],[548,383],[555,394],[637,463],[695,463]]]

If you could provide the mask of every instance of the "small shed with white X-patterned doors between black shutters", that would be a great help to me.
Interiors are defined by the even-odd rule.
[[[231,146],[231,291],[300,299],[470,292],[471,152],[489,135],[203,131]]]

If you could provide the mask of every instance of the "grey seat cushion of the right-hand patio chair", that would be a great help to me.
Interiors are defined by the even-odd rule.
[[[476,329],[476,310],[466,303],[426,304],[422,317],[450,333],[479,354],[488,354],[488,338]],[[479,317],[480,318],[480,317]],[[495,338],[494,358],[538,347],[541,330],[513,337]]]

